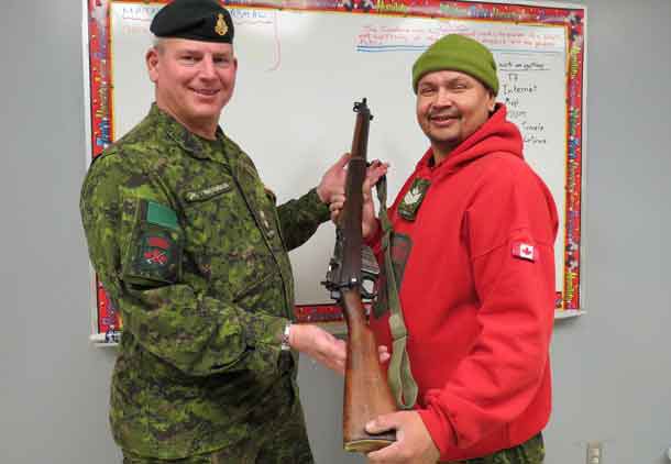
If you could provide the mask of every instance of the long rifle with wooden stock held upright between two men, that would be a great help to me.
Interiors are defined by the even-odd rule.
[[[369,124],[366,99],[354,103],[356,124],[345,180],[345,203],[337,229],[334,256],[324,285],[338,299],[348,325],[348,358],[343,398],[343,445],[346,451],[367,453],[396,441],[396,432],[370,434],[365,424],[396,411],[396,402],[380,365],[375,336],[362,305],[362,211],[366,176]]]

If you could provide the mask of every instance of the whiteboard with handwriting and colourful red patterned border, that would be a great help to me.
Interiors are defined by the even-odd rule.
[[[153,101],[144,54],[152,44],[148,25],[163,3],[106,3],[109,9],[105,15],[95,5],[90,13],[103,16],[100,19],[107,21],[109,31],[109,49],[103,51],[109,62],[102,66],[111,84],[105,101],[113,108],[108,122],[111,142],[141,121]],[[506,21],[494,15],[473,19],[350,13],[342,8],[310,9],[309,0],[304,3],[308,8],[228,7],[235,24],[239,70],[233,98],[223,109],[220,123],[254,159],[261,178],[278,201],[296,198],[316,186],[321,173],[349,150],[354,124],[352,103],[365,97],[374,115],[369,158],[391,163],[391,202],[429,146],[415,117],[413,63],[444,34],[472,36],[492,49],[499,69],[497,101],[508,107],[509,119],[522,133],[527,162],[557,202],[561,231],[556,243],[557,290],[562,296],[558,308],[578,309],[578,288],[566,298],[566,273],[578,270],[575,250],[572,254],[566,251],[580,244],[580,236],[569,233],[566,227],[570,218],[571,229],[575,229],[575,214],[569,214],[569,209],[575,210],[576,205],[580,218],[580,198],[578,203],[574,198],[580,166],[578,170],[571,167],[576,157],[570,156],[569,146],[576,135],[571,102],[580,102],[583,92],[580,79],[579,93],[574,95],[576,71],[581,71],[578,77],[582,76],[576,47],[580,58],[584,53],[582,35],[571,27],[574,10],[537,7],[542,20],[537,14],[537,21],[525,22],[520,20],[520,5],[505,7],[505,11],[517,14],[508,13],[504,19],[516,21]],[[378,10],[385,5],[381,1],[376,4]],[[496,3],[485,5],[498,12]],[[504,11],[503,5],[498,8]],[[531,11],[530,7],[527,10]],[[458,7],[450,12],[457,14]],[[559,20],[552,21],[549,14]],[[96,89],[91,93],[92,98],[102,95]],[[580,123],[582,133],[582,119]],[[579,181],[579,197],[580,190]],[[330,302],[320,280],[333,241],[334,228],[328,223],[290,253],[298,303]],[[578,276],[570,277],[578,287]]]

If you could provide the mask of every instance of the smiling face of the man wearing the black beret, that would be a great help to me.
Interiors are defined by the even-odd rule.
[[[164,38],[146,54],[156,104],[191,132],[211,137],[235,87],[229,43]]]

